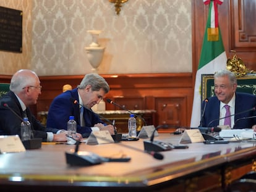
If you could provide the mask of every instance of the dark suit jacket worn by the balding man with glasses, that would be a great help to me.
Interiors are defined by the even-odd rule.
[[[20,102],[12,91],[5,94],[0,98],[0,135],[19,135],[20,136],[20,123],[23,119],[23,111]],[[8,106],[17,114],[15,115]],[[33,135],[35,138],[42,138],[43,141],[47,140],[47,131],[56,133],[58,130],[52,128],[45,128],[41,123],[36,120],[35,116],[31,113],[30,109],[26,109],[28,120],[31,124]]]

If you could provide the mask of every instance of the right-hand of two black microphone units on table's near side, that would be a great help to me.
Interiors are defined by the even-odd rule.
[[[158,125],[158,127],[155,128],[155,130],[153,131],[150,137],[150,140],[143,141],[145,151],[169,151],[174,148],[173,144],[171,143],[164,143],[163,141],[153,141],[155,136],[155,131],[161,127],[168,128],[169,125]]]

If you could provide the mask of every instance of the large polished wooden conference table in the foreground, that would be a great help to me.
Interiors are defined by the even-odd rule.
[[[177,144],[180,137],[161,133],[155,140]],[[82,143],[79,151],[94,152],[103,157],[130,156],[131,160],[72,167],[66,164],[65,151],[74,150],[74,145],[42,144],[41,149],[0,154],[0,189],[223,191],[229,183],[255,170],[255,143],[187,145],[188,149],[161,152],[164,159],[158,160],[143,152],[143,139],[97,145]]]

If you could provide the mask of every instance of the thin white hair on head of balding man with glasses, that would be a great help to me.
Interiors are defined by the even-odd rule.
[[[37,77],[37,75],[32,70],[21,69],[17,71],[11,78],[10,90],[15,94],[20,93],[24,87],[32,85],[36,82],[35,77]]]

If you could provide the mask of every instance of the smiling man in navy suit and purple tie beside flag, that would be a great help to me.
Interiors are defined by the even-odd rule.
[[[202,114],[202,127],[225,125],[226,118],[221,118],[227,116],[225,106],[228,105],[229,114],[236,114],[230,117],[231,122],[229,126],[231,128],[252,128],[252,126],[256,124],[255,117],[247,119],[241,118],[256,115],[256,97],[252,94],[237,93],[236,77],[234,73],[229,70],[220,70],[215,73],[214,83],[215,96],[209,98],[208,102],[202,102],[201,109],[205,107],[205,112]],[[228,123],[226,125],[228,125]]]

